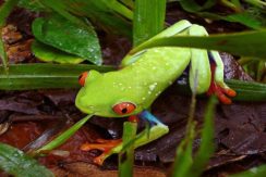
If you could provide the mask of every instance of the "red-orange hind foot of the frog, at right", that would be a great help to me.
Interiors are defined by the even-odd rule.
[[[215,80],[215,69],[216,69],[216,64],[211,63],[210,64],[210,69],[211,69],[211,81],[210,81],[210,86],[208,88],[207,94],[211,96],[215,94],[218,97],[218,99],[220,100],[220,102],[222,102],[223,104],[231,104],[231,97],[235,97],[237,92],[232,89],[230,89],[226,84],[218,84]]]

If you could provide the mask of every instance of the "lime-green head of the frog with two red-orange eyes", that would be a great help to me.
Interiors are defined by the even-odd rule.
[[[80,84],[83,87],[76,96],[76,106],[84,113],[105,117],[123,117],[140,113],[142,106],[131,92],[121,90],[121,83],[116,84],[117,77],[111,73],[114,72],[83,73],[80,76]]]

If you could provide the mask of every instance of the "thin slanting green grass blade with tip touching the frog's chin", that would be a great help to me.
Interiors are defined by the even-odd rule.
[[[87,115],[86,117],[82,118],[77,123],[75,123],[72,127],[70,127],[68,130],[62,132],[60,136],[55,138],[52,141],[47,143],[46,146],[41,147],[40,149],[33,152],[33,154],[41,153],[51,151],[59,146],[63,144],[70,137],[72,137],[93,115]]]

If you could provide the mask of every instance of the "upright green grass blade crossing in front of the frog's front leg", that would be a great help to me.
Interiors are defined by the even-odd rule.
[[[136,136],[137,124],[125,122],[123,125],[123,144],[130,143]],[[119,176],[133,176],[134,143],[119,153]]]

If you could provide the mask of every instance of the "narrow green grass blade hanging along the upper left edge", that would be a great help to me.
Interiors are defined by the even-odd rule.
[[[0,58],[2,60],[2,65],[5,71],[8,71],[8,56],[5,53],[4,43],[2,40],[2,28],[5,24],[5,20],[17,4],[19,0],[7,0],[0,8]]]

